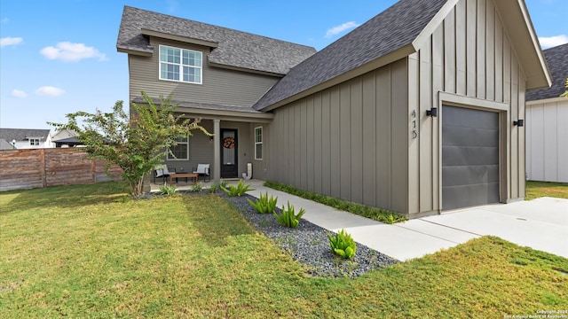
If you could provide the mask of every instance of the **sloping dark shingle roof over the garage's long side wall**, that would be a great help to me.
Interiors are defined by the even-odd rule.
[[[256,110],[292,97],[413,43],[447,0],[401,0],[294,67]]]

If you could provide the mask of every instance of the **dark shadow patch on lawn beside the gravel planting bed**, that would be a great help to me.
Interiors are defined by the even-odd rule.
[[[183,201],[195,229],[211,247],[228,245],[229,237],[256,233],[234,206],[217,195],[185,195]]]

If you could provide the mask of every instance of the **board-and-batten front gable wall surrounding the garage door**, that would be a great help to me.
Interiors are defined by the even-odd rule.
[[[420,50],[408,57],[408,122],[416,111],[416,138],[408,140],[409,214],[439,212],[441,198],[440,92],[457,106],[501,113],[501,202],[525,197],[525,75],[493,0],[461,0]],[[485,101],[508,105],[491,109]],[[450,105],[456,103],[449,103]],[[426,111],[438,107],[438,118]]]

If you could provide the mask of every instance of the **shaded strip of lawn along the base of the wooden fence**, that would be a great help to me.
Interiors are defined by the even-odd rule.
[[[15,195],[14,195],[15,194]],[[0,214],[39,208],[78,208],[114,203],[129,198],[128,185],[122,182],[51,186],[33,190],[0,193]]]

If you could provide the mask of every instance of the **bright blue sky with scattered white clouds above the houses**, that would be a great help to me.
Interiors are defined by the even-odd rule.
[[[427,0],[425,0],[427,1]],[[51,128],[128,100],[123,5],[321,50],[396,0],[0,0],[0,127]],[[567,0],[526,0],[544,48],[568,43]]]

